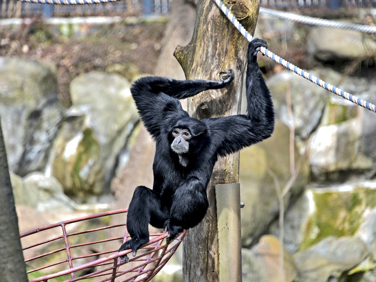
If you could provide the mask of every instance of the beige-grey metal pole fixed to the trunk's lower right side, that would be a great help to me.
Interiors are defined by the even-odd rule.
[[[241,282],[240,183],[215,185],[219,282]]]

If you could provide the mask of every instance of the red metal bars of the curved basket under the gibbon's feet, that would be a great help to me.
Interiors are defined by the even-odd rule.
[[[39,227],[37,229],[22,233],[20,235],[21,238],[30,236],[32,234],[38,233],[38,232],[43,232],[44,230],[49,230],[55,227],[61,227],[62,228],[62,235],[57,236],[55,238],[50,238],[48,240],[45,240],[40,243],[32,244],[30,246],[24,247],[23,250],[29,250],[35,247],[43,247],[44,249],[48,249],[49,245],[53,246],[52,243],[56,243],[57,240],[64,239],[64,245],[62,245],[60,248],[55,249],[56,247],[51,247],[48,252],[45,252],[41,255],[33,256],[31,258],[25,259],[26,264],[33,264],[33,267],[35,267],[36,264],[38,264],[37,260],[48,257],[49,255],[53,255],[55,253],[64,251],[67,253],[67,259],[64,259],[62,261],[58,262],[53,262],[51,264],[44,265],[43,262],[39,264],[37,267],[33,268],[32,270],[27,271],[27,273],[32,273],[35,271],[47,271],[46,268],[49,267],[56,267],[57,265],[61,265],[61,268],[63,268],[64,264],[69,265],[69,267],[65,270],[61,270],[52,274],[44,275],[38,278],[33,278],[30,279],[29,282],[39,282],[39,281],[48,281],[49,279],[53,279],[56,277],[62,277],[65,275],[70,274],[70,278],[65,280],[66,282],[74,282],[74,281],[79,281],[79,280],[84,280],[86,278],[92,278],[92,277],[101,277],[103,276],[102,280],[96,280],[97,282],[105,282],[105,281],[150,281],[161,268],[167,263],[167,261],[171,258],[171,256],[174,254],[175,250],[177,247],[180,245],[182,242],[183,238],[186,235],[186,230],[184,230],[183,233],[181,233],[175,240],[171,241],[170,244],[167,244],[166,241],[164,240],[168,233],[155,233],[155,234],[150,234],[150,241],[149,243],[145,244],[141,249],[144,250],[144,252],[138,252],[139,255],[136,257],[131,257],[129,259],[130,262],[133,262],[132,267],[126,270],[120,270],[120,267],[122,265],[126,265],[127,262],[124,262],[120,259],[120,256],[123,256],[125,254],[128,254],[131,252],[131,250],[125,250],[120,253],[117,252],[117,250],[108,250],[105,252],[95,252],[95,253],[89,253],[87,255],[81,255],[81,256],[73,256],[71,254],[71,249],[73,248],[80,248],[80,247],[85,247],[88,245],[92,244],[97,244],[97,243],[104,243],[108,241],[114,241],[114,240],[121,240],[123,239],[123,242],[125,242],[128,238],[130,238],[128,231],[126,230],[124,237],[115,237],[115,238],[109,238],[109,239],[104,239],[104,240],[99,240],[99,241],[93,241],[93,242],[86,242],[86,243],[80,243],[80,244],[69,244],[69,239],[73,238],[74,236],[84,234],[84,233],[89,233],[89,232],[97,232],[100,230],[106,230],[109,228],[115,228],[115,227],[122,227],[126,229],[126,223],[123,224],[114,224],[114,225],[109,225],[109,226],[104,226],[104,227],[99,227],[95,229],[89,229],[89,230],[84,230],[81,232],[72,232],[69,233],[67,232],[66,226],[72,223],[77,223],[79,221],[84,221],[84,220],[90,220],[93,218],[98,218],[98,217],[103,217],[107,215],[114,215],[114,214],[121,214],[124,212],[127,212],[128,209],[117,209],[115,211],[108,211],[108,212],[100,212],[98,214],[92,214],[92,215],[87,215],[84,217],[79,217],[79,218],[74,218],[71,220],[66,220],[62,222],[58,222],[55,224],[50,224],[46,225],[43,227]],[[71,240],[72,241],[72,240]],[[112,253],[112,254],[111,254]],[[76,259],[82,259],[82,258],[90,258],[90,257],[97,257],[100,255],[105,255],[105,254],[111,254],[103,258],[95,259],[91,262],[81,264],[78,266],[74,266],[73,262]],[[106,267],[108,265],[108,267]],[[134,266],[136,265],[136,266]],[[101,266],[99,270],[92,270],[91,273],[76,277],[79,275],[79,272],[82,272],[84,270],[92,269],[94,267]],[[66,267],[65,267],[66,268]],[[123,267],[124,268],[124,267]],[[124,276],[125,274],[129,274],[127,278],[121,278],[121,276]],[[133,274],[133,275],[132,275]],[[101,277],[102,278],[102,277]]]

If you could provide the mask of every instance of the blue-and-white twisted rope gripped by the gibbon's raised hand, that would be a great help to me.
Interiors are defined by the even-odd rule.
[[[235,16],[227,9],[227,7],[223,4],[220,0],[213,0],[217,6],[221,9],[221,11],[226,15],[226,17],[232,22],[232,24],[239,30],[239,32],[250,42],[253,40],[252,35],[239,23],[239,21],[235,18]],[[331,91],[338,96],[343,97],[346,100],[349,100],[359,106],[362,106],[364,108],[367,108],[373,112],[375,112],[375,105],[371,104],[370,102],[367,102],[361,98],[358,98],[346,91],[343,91],[342,89],[333,86],[324,80],[319,79],[318,77],[313,76],[312,74],[306,72],[305,70],[302,70],[298,68],[297,66],[291,64],[290,62],[286,61],[285,59],[280,58],[270,50],[266,49],[265,47],[261,47],[260,52],[266,56],[268,56],[273,61],[276,61],[277,63],[281,64],[285,68],[288,68],[291,71],[294,71],[294,73],[299,74],[300,76],[303,76],[305,79],[308,79],[309,81],[321,86],[322,88],[325,88],[328,91]]]

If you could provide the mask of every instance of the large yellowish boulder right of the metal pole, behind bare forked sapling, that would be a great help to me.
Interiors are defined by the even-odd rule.
[[[295,149],[295,162],[300,156]],[[281,190],[290,179],[289,130],[281,123],[276,127],[271,138],[241,151],[240,153],[240,197],[245,203],[241,209],[242,246],[254,244],[265,232],[279,212],[276,192],[278,179]],[[272,171],[273,174],[270,173]],[[308,181],[308,165],[302,161],[299,175],[285,197],[285,205],[299,194]]]

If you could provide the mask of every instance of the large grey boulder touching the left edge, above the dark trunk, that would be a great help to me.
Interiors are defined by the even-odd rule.
[[[10,170],[43,171],[62,118],[56,68],[42,61],[0,58],[0,115]]]

